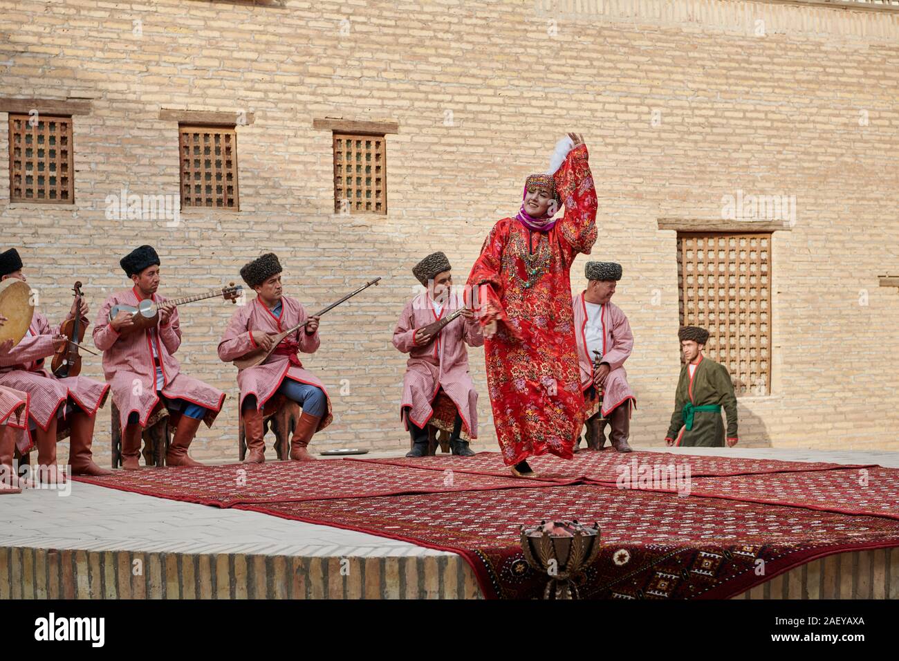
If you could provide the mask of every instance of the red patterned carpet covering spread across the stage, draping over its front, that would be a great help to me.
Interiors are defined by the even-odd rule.
[[[531,465],[541,481],[507,477],[486,452],[76,480],[454,551],[492,598],[542,594],[547,576],[524,561],[519,526],[548,518],[600,524],[601,554],[576,578],[586,598],[725,598],[814,558],[899,546],[899,469],[613,451]],[[689,467],[689,496],[637,478],[671,466],[681,477]]]

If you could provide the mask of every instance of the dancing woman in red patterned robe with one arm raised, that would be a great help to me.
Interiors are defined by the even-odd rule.
[[[467,286],[485,330],[487,386],[503,461],[534,477],[527,459],[572,459],[583,394],[568,272],[596,241],[596,192],[580,135],[556,145],[547,174],[525,182],[521,210],[490,230]],[[559,203],[565,216],[553,219]]]

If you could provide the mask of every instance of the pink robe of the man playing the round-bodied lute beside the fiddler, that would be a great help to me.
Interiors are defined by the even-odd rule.
[[[157,303],[165,297],[154,294]],[[147,418],[159,401],[156,394],[156,367],[153,362],[151,336],[162,358],[165,397],[186,399],[193,404],[205,406],[209,411],[203,422],[211,427],[221,411],[225,393],[199,379],[182,374],[181,365],[174,357],[181,345],[181,326],[178,309],[175,308],[169,323],[165,326],[149,328],[143,333],[119,335],[110,326],[109,316],[112,306],[117,304],[137,306],[139,294],[134,288],[119,291],[103,301],[93,326],[93,344],[103,353],[103,373],[112,387],[112,401],[119,409],[120,425],[124,430],[128,416],[137,412],[141,426],[147,425]]]

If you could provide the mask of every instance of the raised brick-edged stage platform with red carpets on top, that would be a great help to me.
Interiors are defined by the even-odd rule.
[[[510,546],[508,529],[552,512],[599,519],[610,562],[605,576],[592,578],[596,596],[899,596],[895,453],[690,450],[688,458],[675,449],[673,459],[690,465],[690,496],[677,496],[676,488],[616,488],[617,478],[634,475],[617,466],[634,459],[638,467],[660,463],[654,458],[661,455],[643,451],[579,455],[561,468],[547,458],[544,481],[528,487],[496,470],[495,455],[417,462],[366,455],[362,459],[378,461],[318,462],[316,473],[324,474],[295,482],[285,478],[289,464],[245,474],[232,465],[147,469],[127,479],[114,476],[109,481],[117,488],[78,482],[66,497],[26,491],[0,498],[0,599],[521,597],[532,585],[527,577],[516,583],[509,576],[522,567],[503,550]],[[799,463],[758,461],[766,459]],[[541,462],[535,460],[535,468]],[[165,477],[174,471],[177,477]],[[150,493],[168,498],[144,495]],[[593,507],[598,503],[603,506]],[[663,503],[674,514],[665,518]],[[695,515],[682,516],[685,510]],[[661,518],[641,530],[656,514]],[[739,519],[734,530],[718,525],[728,519]],[[782,534],[774,538],[782,540],[771,537],[778,527]],[[708,537],[697,534],[702,530]],[[758,539],[762,532],[767,540]],[[741,535],[762,543],[746,544],[757,548],[743,549],[744,564],[737,567],[729,551],[715,549],[733,546]],[[485,542],[490,539],[499,541]],[[639,555],[654,545],[664,549]],[[613,567],[622,549],[630,558]],[[743,576],[760,558],[767,576]],[[681,570],[673,571],[679,562]],[[628,564],[634,577],[622,582]],[[708,579],[723,566],[730,567],[726,576]],[[753,585],[740,589],[747,581]],[[684,592],[691,583],[695,594]]]

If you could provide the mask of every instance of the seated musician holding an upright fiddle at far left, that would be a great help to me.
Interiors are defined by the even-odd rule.
[[[15,248],[0,255],[0,280],[27,281],[22,259]],[[66,319],[81,316],[87,326],[87,302],[75,303]],[[38,477],[42,482],[62,482],[57,468],[56,446],[59,438],[69,437],[69,465],[73,475],[109,475],[93,463],[91,444],[97,409],[106,401],[109,386],[83,376],[58,379],[45,360],[66,344],[59,326],[50,326],[47,317],[35,310],[31,326],[19,344],[0,355],[0,386],[21,390],[29,395],[29,433],[38,446]],[[7,430],[8,431],[8,430]]]

